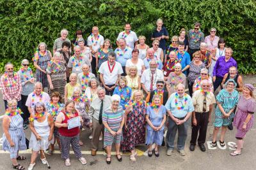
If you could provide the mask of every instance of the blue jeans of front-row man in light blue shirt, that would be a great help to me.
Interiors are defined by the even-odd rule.
[[[178,150],[184,150],[187,134],[188,134],[188,122],[184,124],[177,125],[172,118],[168,117],[168,131],[166,134],[166,143],[168,149],[174,149],[174,139],[176,136],[176,132],[178,130],[178,141],[177,148]]]

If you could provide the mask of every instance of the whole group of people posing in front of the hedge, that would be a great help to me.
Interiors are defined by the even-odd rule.
[[[18,72],[13,71],[13,64],[5,65],[0,80],[6,108],[3,150],[10,152],[14,169],[24,169],[17,160],[26,159],[19,150],[27,148],[32,149],[29,170],[38,153],[47,164],[45,152],[52,155],[56,142],[65,166],[70,166],[70,145],[77,159],[86,164],[80,147],[84,145],[82,128],[91,132],[93,156],[103,141],[107,164],[111,164],[113,143],[119,162],[120,150],[131,152],[130,159],[136,161],[135,147],[141,144],[148,146],[148,157],[153,152],[159,157],[165,128],[166,155],[172,155],[178,131],[177,150],[184,156],[189,118],[189,150],[194,151],[197,142],[205,152],[213,111],[211,145],[216,146],[221,128],[220,145],[225,146],[225,133],[235,125],[237,144],[230,155],[241,154],[246,132],[253,125],[255,98],[253,85],[243,84],[237,73],[232,48],[225,47],[215,28],[204,38],[198,22],[188,34],[181,29],[167,46],[169,35],[163,20],[158,19],[156,25],[151,48],[145,44],[145,36],[138,38],[131,31],[131,24],[125,24],[118,34],[115,50],[96,26],[87,41],[83,32],[77,31],[71,42],[63,29],[54,41],[53,56],[45,43],[39,43],[33,57],[35,77],[27,59],[22,60]],[[187,84],[189,94],[185,92]],[[23,130],[27,125],[31,129],[29,144]]]

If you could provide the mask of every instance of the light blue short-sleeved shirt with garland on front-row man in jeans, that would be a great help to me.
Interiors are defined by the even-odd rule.
[[[175,99],[177,99],[177,102],[175,102],[176,101]],[[184,106],[184,108],[179,109],[182,106]],[[176,117],[176,118],[184,118],[189,112],[192,112],[195,110],[192,99],[188,94],[184,94],[183,97],[179,97],[179,94],[177,94],[176,92],[169,97],[168,101],[165,104],[165,107],[166,107],[166,110],[171,111],[173,117]]]

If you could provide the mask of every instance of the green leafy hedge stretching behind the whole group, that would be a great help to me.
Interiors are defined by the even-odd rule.
[[[100,34],[111,39],[113,46],[125,22],[131,22],[137,35],[149,37],[157,18],[163,18],[170,36],[179,34],[182,27],[193,28],[199,21],[202,31],[217,34],[234,49],[234,58],[242,73],[256,73],[256,3],[252,0],[0,0],[0,72],[6,61],[20,65],[24,58],[31,60],[38,43],[44,41],[51,50],[60,30],[68,29],[69,39],[81,29],[86,38],[93,25]]]

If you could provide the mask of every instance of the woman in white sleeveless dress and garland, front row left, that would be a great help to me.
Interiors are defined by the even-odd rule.
[[[53,143],[54,123],[51,114],[46,111],[45,104],[42,102],[35,104],[35,115],[30,116],[29,122],[31,129],[29,148],[32,149],[32,155],[28,169],[32,170],[39,151],[42,163],[47,164],[44,152]]]

